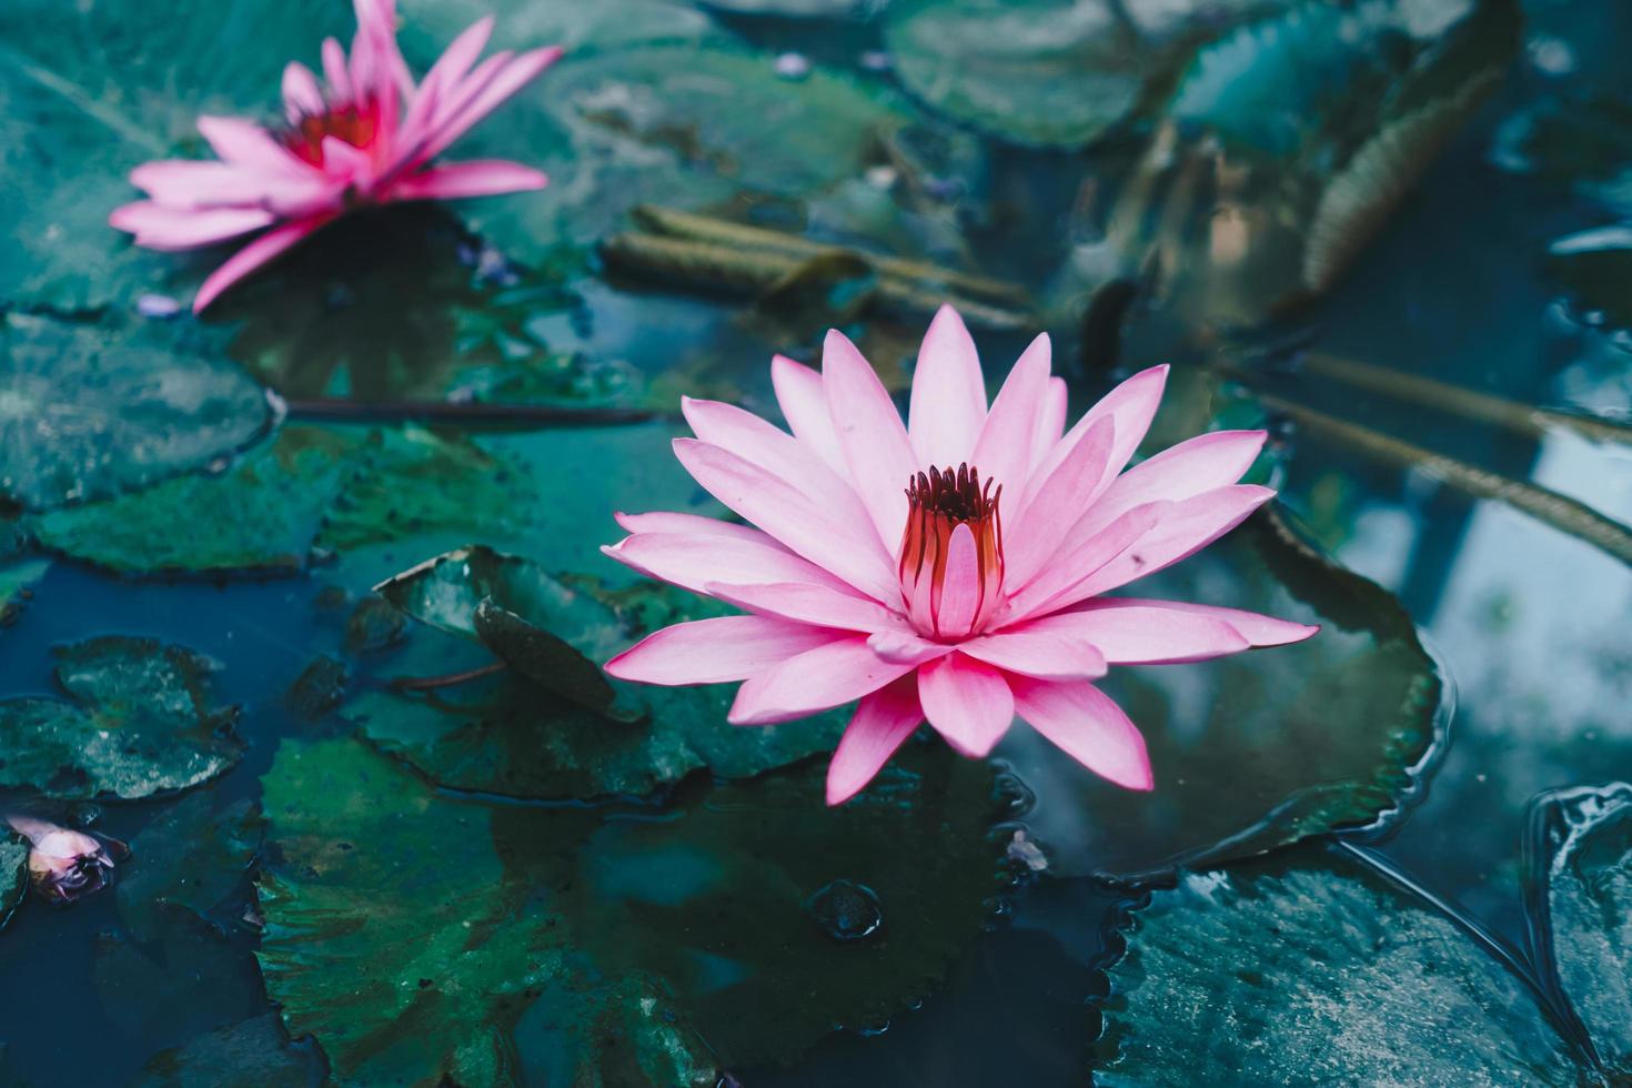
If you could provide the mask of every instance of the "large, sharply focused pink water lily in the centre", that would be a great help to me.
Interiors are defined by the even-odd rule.
[[[827,768],[827,804],[860,791],[927,718],[984,757],[1023,718],[1129,789],[1144,737],[1093,682],[1108,666],[1203,661],[1317,628],[1235,608],[1105,597],[1200,551],[1275,493],[1235,483],[1262,431],[1214,431],[1121,471],[1167,367],[1128,378],[1071,431],[1048,336],[997,400],[943,307],[919,351],[909,422],[873,367],[827,333],[821,372],[772,362],[792,434],[685,400],[687,471],[757,525],[619,514],[605,548],[651,577],[747,612],[653,633],[607,662],[645,683],[741,680],[730,721],[790,721],[860,700]]]

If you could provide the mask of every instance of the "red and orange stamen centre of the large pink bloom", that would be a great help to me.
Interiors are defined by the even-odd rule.
[[[1002,484],[969,465],[907,480],[901,535],[901,600],[925,638],[961,639],[996,612],[1004,587]]]

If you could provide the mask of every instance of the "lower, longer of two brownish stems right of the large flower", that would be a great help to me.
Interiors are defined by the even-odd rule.
[[[1552,525],[1559,532],[1585,540],[1586,543],[1608,551],[1625,564],[1632,564],[1632,529],[1617,520],[1604,517],[1593,507],[1559,494],[1539,484],[1513,480],[1483,468],[1459,462],[1444,453],[1435,453],[1420,445],[1395,439],[1394,436],[1373,431],[1356,422],[1348,422],[1314,408],[1304,408],[1294,401],[1258,393],[1258,400],[1270,411],[1288,416],[1312,434],[1346,445],[1376,460],[1397,465],[1400,468],[1420,468],[1438,478],[1441,483],[1456,488],[1475,499],[1495,499],[1516,511]]]

